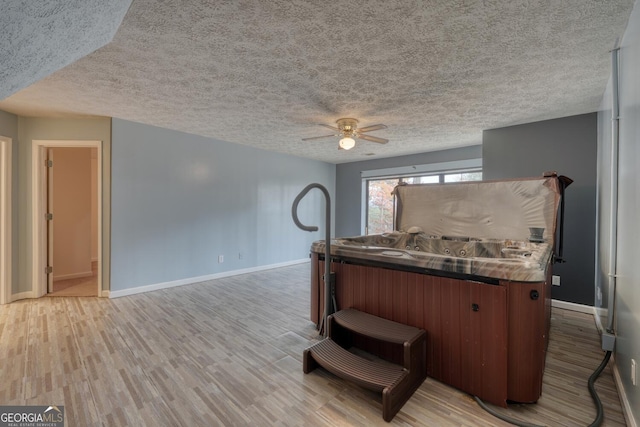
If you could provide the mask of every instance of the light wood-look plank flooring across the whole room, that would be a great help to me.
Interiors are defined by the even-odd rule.
[[[64,405],[71,426],[507,426],[428,378],[388,424],[379,394],[322,369],[301,264],[118,299],[0,306],[0,404]],[[603,352],[593,316],[554,309],[543,395],[502,413],[549,426],[595,416],[587,390]],[[604,426],[624,418],[608,366]]]

